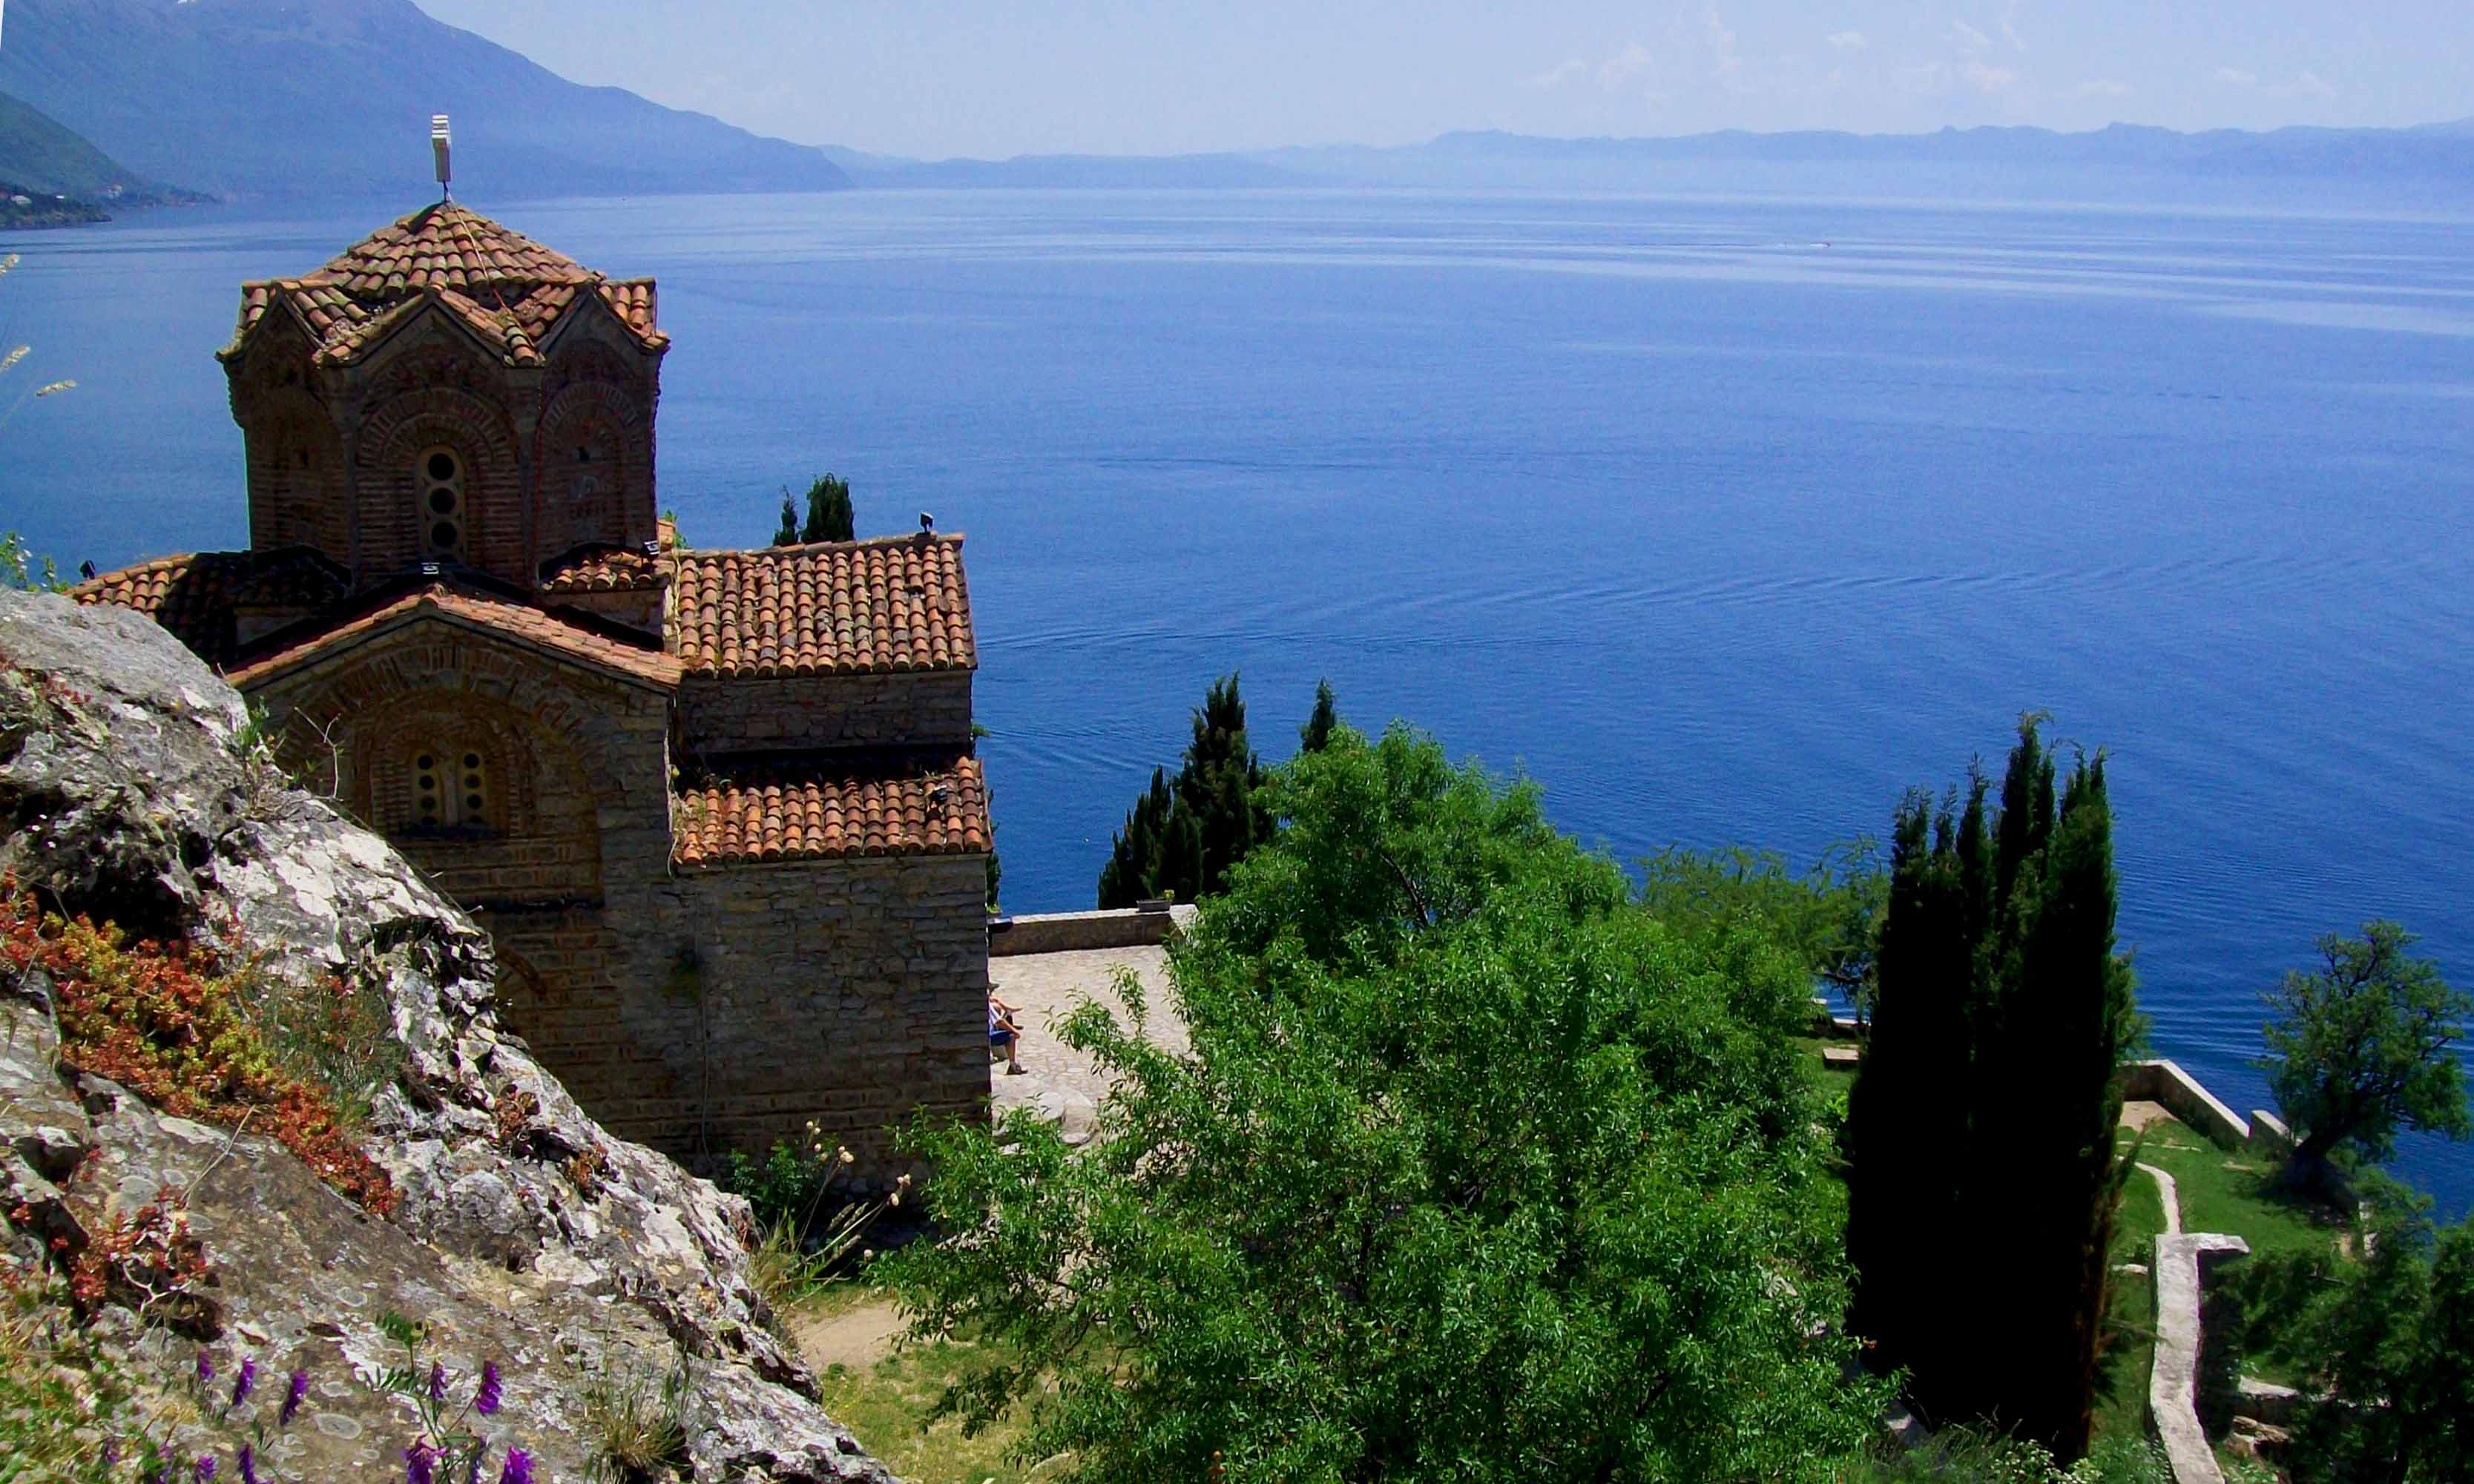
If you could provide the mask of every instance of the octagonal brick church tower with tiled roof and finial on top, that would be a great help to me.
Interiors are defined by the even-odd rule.
[[[433,121],[448,186],[448,121]],[[656,539],[653,279],[611,279],[445,190],[327,267],[242,284],[218,351],[250,547],[359,589],[428,566],[524,591]]]

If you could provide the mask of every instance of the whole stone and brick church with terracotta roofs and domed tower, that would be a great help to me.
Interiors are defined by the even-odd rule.
[[[685,547],[651,279],[460,205],[240,292],[250,549],[151,613],[490,930],[502,1019],[683,1158],[990,1091],[962,539]]]

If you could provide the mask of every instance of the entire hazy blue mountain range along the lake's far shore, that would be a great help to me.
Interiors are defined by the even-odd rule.
[[[1445,134],[1395,148],[913,161],[764,139],[616,87],[584,87],[430,20],[413,0],[17,0],[0,92],[10,171],[233,198],[430,188],[428,119],[455,116],[475,198],[871,188],[1653,190],[2170,200],[2474,210],[2474,119],[2266,134],[2113,126],[1940,134],[1531,139]],[[62,141],[74,141],[74,148]],[[84,148],[84,156],[77,151]],[[74,156],[74,158],[72,158]]]

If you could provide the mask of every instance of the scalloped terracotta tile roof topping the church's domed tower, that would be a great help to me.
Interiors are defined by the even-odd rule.
[[[653,279],[611,282],[445,200],[379,228],[312,275],[242,284],[240,324],[223,354],[238,354],[267,314],[289,312],[317,341],[319,361],[351,361],[435,299],[507,364],[532,366],[542,336],[586,292],[646,346],[668,344],[653,317]]]

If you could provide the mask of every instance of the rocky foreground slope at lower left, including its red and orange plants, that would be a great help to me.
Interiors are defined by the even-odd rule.
[[[195,1454],[247,1477],[242,1442],[267,1477],[406,1479],[411,1410],[354,1380],[403,1363],[381,1333],[398,1311],[428,1326],[433,1395],[463,1405],[502,1368],[505,1410],[458,1422],[492,1442],[482,1477],[520,1444],[544,1482],[584,1479],[614,1439],[599,1392],[675,1420],[658,1452],[695,1479],[891,1484],[767,1331],[747,1202],[594,1123],[500,1026],[490,937],[247,735],[240,695],[153,621],[0,589],[0,1279],[22,1296],[0,1306],[0,1390],[47,1358],[119,1373],[121,1422],[173,1442],[181,1479],[208,1477]],[[114,970],[32,910],[193,945],[242,987],[143,942]],[[220,994],[257,1007],[240,1031]],[[294,1076],[262,1061],[285,1036],[327,1049],[319,1083],[364,1088],[327,1143],[336,1123],[270,1086]],[[369,1162],[376,1187],[344,1195],[336,1172]],[[27,1333],[52,1341],[5,1343]],[[181,1405],[208,1363],[218,1385]],[[277,1412],[294,1370],[297,1420]],[[92,1454],[101,1392],[27,1395],[0,1422],[54,1437],[84,1395]]]

